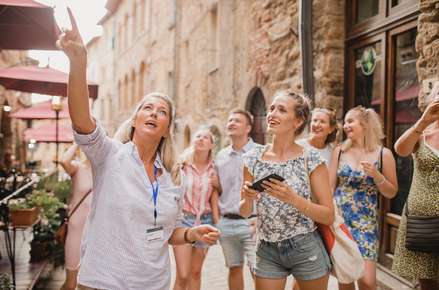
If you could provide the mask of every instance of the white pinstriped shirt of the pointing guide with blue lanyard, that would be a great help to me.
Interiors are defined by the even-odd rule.
[[[109,138],[96,117],[96,130],[75,142],[91,163],[93,194],[81,243],[78,283],[109,290],[168,290],[171,269],[168,239],[183,218],[186,177],[175,186],[160,156],[157,221],[152,186],[137,146]],[[147,241],[147,230],[163,226],[164,240]]]

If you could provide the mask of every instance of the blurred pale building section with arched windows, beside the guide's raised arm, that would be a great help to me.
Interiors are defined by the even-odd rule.
[[[88,75],[99,83],[92,111],[112,135],[152,91],[172,95],[175,14],[171,0],[122,0],[87,46]],[[114,48],[110,43],[114,37]]]

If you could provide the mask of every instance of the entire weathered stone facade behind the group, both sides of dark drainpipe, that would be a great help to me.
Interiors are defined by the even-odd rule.
[[[258,88],[266,105],[278,88],[302,90],[299,39],[291,33],[299,32],[298,0],[177,1],[177,15],[173,1],[147,0],[143,20],[140,3],[121,1],[104,21],[104,35],[88,46],[89,75],[97,73],[100,83],[94,111],[108,125],[130,116],[139,90],[157,90],[178,101],[180,149],[203,124],[217,131],[223,147],[229,143],[228,112],[249,109]],[[136,17],[134,5],[140,9]],[[137,29],[144,21],[134,35],[133,19]],[[113,27],[115,49],[109,53]],[[313,30],[316,104],[341,109],[344,0],[314,0]],[[111,96],[113,110],[105,115]]]

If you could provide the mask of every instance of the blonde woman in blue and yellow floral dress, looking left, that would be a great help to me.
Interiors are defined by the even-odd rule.
[[[382,124],[373,109],[349,110],[343,129],[347,139],[332,153],[329,180],[339,214],[363,255],[365,270],[358,287],[376,290],[378,193],[392,198],[398,191],[395,158],[382,145]],[[354,290],[355,285],[338,284],[338,288]]]

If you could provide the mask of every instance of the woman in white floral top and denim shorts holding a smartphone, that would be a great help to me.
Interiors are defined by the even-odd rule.
[[[305,96],[278,90],[267,114],[273,143],[243,155],[241,216],[252,215],[257,200],[258,240],[252,268],[256,290],[283,290],[290,274],[301,289],[327,289],[332,265],[314,225],[315,220],[329,226],[335,219],[327,167],[319,150],[313,148],[306,157],[306,168],[305,149],[295,143],[309,123],[309,113]],[[264,181],[260,195],[249,188],[270,173],[283,177],[284,182]],[[311,189],[317,204],[311,202]]]

